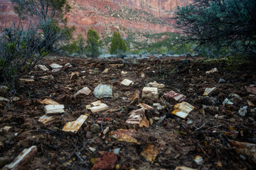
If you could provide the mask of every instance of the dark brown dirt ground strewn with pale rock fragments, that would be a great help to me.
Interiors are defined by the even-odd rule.
[[[256,91],[245,87],[256,84],[255,64],[233,68],[228,60],[189,60],[174,70],[181,62],[47,57],[41,64],[50,70],[34,69],[23,77],[34,81],[17,82],[18,101],[9,109],[0,101],[0,168],[8,169],[6,164],[23,149],[36,146],[19,169],[255,169]],[[52,72],[53,63],[72,67]],[[215,67],[218,72],[206,74]],[[109,70],[103,73],[105,69]],[[70,80],[72,72],[79,77]],[[124,86],[124,79],[134,84]],[[142,98],[141,93],[131,103],[134,93],[153,81],[164,84],[158,97]],[[109,108],[92,113],[87,105],[99,100],[94,95],[99,84],[112,86],[112,98],[101,98]],[[74,97],[83,87],[92,92]],[[203,96],[208,87],[215,90]],[[195,107],[185,119],[172,114],[181,102],[164,96],[169,91],[185,95],[183,101]],[[40,101],[46,98],[64,105],[65,113],[43,124],[38,120],[46,114],[46,104]],[[225,98],[229,101],[223,105]],[[153,107],[142,109],[142,127],[126,123],[139,103]],[[80,130],[63,132],[64,125],[80,115],[88,116]],[[120,138],[114,137],[118,132]]]

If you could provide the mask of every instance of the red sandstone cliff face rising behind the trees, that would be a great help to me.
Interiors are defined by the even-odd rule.
[[[72,10],[68,25],[75,26],[75,36],[86,36],[87,30],[97,30],[102,38],[119,30],[123,38],[149,41],[145,34],[174,32],[171,17],[185,0],[69,0]],[[10,0],[0,0],[0,20],[10,23],[15,13]],[[109,39],[109,38],[108,38]],[[106,40],[107,42],[107,40]]]

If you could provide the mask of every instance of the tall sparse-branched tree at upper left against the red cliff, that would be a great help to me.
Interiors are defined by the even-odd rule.
[[[70,40],[75,28],[68,28],[67,18],[64,18],[64,14],[68,13],[71,8],[67,0],[11,1],[14,4],[14,11],[21,19],[30,19],[41,29],[44,40],[42,46],[47,50],[58,50],[56,42]]]

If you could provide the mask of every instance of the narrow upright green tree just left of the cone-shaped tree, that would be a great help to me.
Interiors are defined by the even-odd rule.
[[[85,47],[88,57],[96,58],[100,55],[100,47],[102,47],[102,40],[97,35],[96,30],[89,29],[87,31],[87,45]]]

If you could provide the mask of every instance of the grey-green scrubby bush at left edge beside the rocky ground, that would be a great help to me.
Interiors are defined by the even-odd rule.
[[[15,91],[16,79],[31,71],[48,51],[35,29],[13,26],[0,35],[0,84]]]

